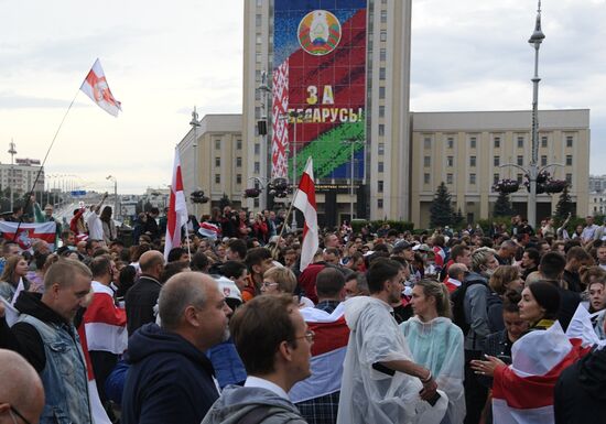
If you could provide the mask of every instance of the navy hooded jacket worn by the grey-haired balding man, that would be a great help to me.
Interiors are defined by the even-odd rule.
[[[155,324],[130,337],[128,361],[123,424],[199,424],[219,396],[206,355]]]

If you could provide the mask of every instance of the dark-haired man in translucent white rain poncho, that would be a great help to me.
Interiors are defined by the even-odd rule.
[[[403,290],[401,264],[379,258],[367,279],[370,296],[345,303],[350,334],[337,424],[440,423],[447,402],[437,394],[431,371],[413,362],[391,316],[391,304]]]

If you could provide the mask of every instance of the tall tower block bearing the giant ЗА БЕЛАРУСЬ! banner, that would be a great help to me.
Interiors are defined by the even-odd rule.
[[[356,218],[405,219],[411,1],[344,0],[326,10],[322,4],[245,0],[245,180],[296,181],[312,155],[322,225],[348,219],[351,208]],[[316,15],[340,37],[327,42],[328,53],[306,44],[305,25],[313,33]],[[340,115],[334,123],[343,110],[345,119]],[[289,118],[293,111],[301,115]],[[260,134],[259,121],[267,122],[267,134]],[[245,204],[264,207],[268,198],[263,193]]]

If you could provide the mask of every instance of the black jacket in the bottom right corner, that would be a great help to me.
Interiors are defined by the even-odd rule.
[[[555,384],[555,424],[606,423],[606,349],[566,368]]]

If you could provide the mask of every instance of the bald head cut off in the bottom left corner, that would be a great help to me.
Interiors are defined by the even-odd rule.
[[[0,424],[37,423],[44,389],[34,368],[19,354],[0,349]]]

